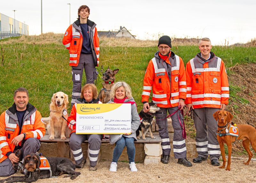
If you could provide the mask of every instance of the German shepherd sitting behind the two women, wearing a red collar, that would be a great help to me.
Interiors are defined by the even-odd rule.
[[[102,89],[99,92],[98,98],[103,104],[106,104],[110,100],[110,89],[115,82],[115,75],[119,71],[119,69],[115,69],[112,71],[108,67],[108,69],[103,73],[103,66],[101,66],[101,68],[101,78],[104,82],[102,83]]]

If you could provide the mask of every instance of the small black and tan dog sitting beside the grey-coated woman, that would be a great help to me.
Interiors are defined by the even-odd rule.
[[[156,111],[159,111],[160,107],[157,107],[157,105],[154,102],[150,102],[148,104],[150,107],[149,111],[145,113],[142,109],[139,113],[141,120],[140,120],[140,126],[136,131],[137,139],[140,139],[141,136],[143,140],[146,140],[146,137],[151,137],[151,139],[156,139],[156,137],[153,136],[151,127],[152,127],[152,122],[156,114]],[[149,129],[150,135],[147,135],[148,129]]]

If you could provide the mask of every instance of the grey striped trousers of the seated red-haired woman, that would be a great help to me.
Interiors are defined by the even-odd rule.
[[[72,133],[69,139],[69,147],[74,155],[76,164],[80,164],[84,161],[81,144],[85,140],[88,140],[89,144],[89,159],[90,165],[96,166],[98,160],[98,154],[101,146],[101,134],[76,134]]]

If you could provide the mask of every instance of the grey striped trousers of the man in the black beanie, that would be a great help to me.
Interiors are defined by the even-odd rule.
[[[160,107],[160,110],[156,112],[156,124],[159,128],[159,135],[162,139],[161,146],[163,150],[163,155],[170,155],[171,153],[171,146],[170,146],[170,139],[168,136],[168,124],[167,124],[167,110],[169,114],[172,114],[178,109],[177,107],[170,107],[170,108],[163,108]],[[180,126],[180,122],[178,119],[179,111],[178,113],[175,113],[171,116],[172,118],[172,127],[174,129],[174,135],[173,135],[173,153],[174,158],[185,158],[187,156],[187,148],[185,139],[182,137],[182,127]],[[184,118],[182,114],[180,113],[180,120],[182,123],[184,123]]]

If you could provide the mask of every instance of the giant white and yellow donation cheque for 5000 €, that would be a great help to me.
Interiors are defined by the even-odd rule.
[[[76,104],[76,134],[131,133],[131,104]]]

